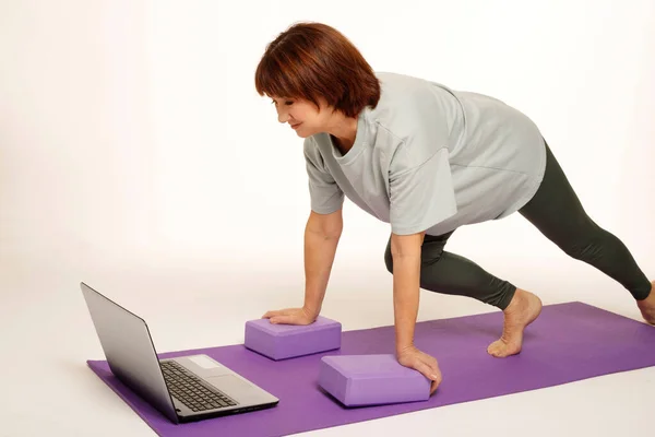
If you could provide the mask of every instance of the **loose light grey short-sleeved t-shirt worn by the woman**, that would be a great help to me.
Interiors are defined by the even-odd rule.
[[[377,76],[380,102],[359,114],[345,155],[329,133],[305,140],[314,212],[341,209],[345,196],[395,234],[441,235],[505,217],[535,194],[546,149],[525,115],[436,82]]]

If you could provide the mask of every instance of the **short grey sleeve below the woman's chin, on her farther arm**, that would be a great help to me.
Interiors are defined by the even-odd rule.
[[[311,138],[306,139],[303,150],[311,210],[319,214],[338,211],[344,203],[344,192],[324,168],[321,153]]]

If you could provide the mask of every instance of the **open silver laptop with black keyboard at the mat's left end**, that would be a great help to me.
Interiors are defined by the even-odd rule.
[[[209,355],[159,359],[145,320],[80,284],[111,373],[172,423],[245,413],[279,400]]]

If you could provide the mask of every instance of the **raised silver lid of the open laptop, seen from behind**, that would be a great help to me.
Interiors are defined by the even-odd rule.
[[[114,375],[172,422],[178,415],[145,320],[85,283],[80,284]]]

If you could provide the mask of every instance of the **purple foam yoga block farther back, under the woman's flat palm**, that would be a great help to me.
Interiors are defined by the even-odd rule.
[[[311,324],[246,322],[245,346],[272,359],[293,358],[341,347],[342,324],[319,316]]]

